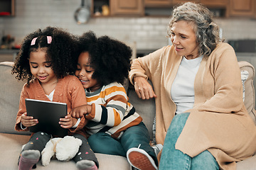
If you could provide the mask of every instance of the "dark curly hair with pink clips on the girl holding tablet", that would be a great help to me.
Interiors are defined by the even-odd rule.
[[[50,44],[48,44],[47,36],[52,37]],[[31,45],[33,38],[37,38],[35,45]],[[21,49],[11,70],[11,74],[17,74],[16,79],[27,79],[28,84],[33,79],[29,57],[31,52],[36,52],[40,48],[46,48],[46,60],[51,61],[53,72],[58,79],[75,73],[76,62],[73,61],[73,55],[78,52],[75,37],[61,28],[48,26],[44,30],[38,29],[28,34],[23,39]]]

